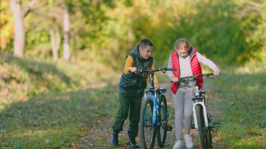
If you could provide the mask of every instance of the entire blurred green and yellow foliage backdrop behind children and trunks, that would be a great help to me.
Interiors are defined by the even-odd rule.
[[[266,47],[265,0],[49,0],[36,5],[39,9],[25,20],[26,55],[31,57],[51,57],[48,31],[59,26],[63,35],[59,10],[64,7],[70,15],[71,51],[86,50],[89,59],[113,68],[123,66],[126,55],[142,38],[153,41],[153,56],[161,62],[166,62],[175,40],[182,37],[202,54],[223,63],[260,61]],[[3,22],[10,25],[12,20],[6,18],[10,12],[3,12]],[[10,49],[10,34],[5,38],[4,46]]]

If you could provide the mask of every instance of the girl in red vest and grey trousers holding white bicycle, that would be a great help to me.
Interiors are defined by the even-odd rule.
[[[186,142],[186,148],[193,148],[190,134],[193,108],[193,84],[192,80],[178,83],[178,79],[184,76],[202,74],[199,63],[210,67],[214,71],[213,74],[215,76],[220,75],[218,67],[211,60],[199,54],[194,47],[190,47],[186,39],[176,40],[174,52],[169,56],[168,68],[177,68],[177,71],[167,71],[167,75],[171,79],[171,90],[173,92],[175,107],[175,136],[177,141],[172,149],[180,149],[182,147],[181,129],[183,119],[185,128],[185,134],[183,136]],[[199,88],[202,87],[202,81],[202,78],[198,79]]]

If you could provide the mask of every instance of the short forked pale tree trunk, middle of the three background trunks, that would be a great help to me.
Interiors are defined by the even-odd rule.
[[[59,50],[59,46],[61,42],[60,31],[59,31],[58,26],[55,28],[50,28],[49,34],[50,34],[50,41],[51,41],[51,46],[52,46],[53,60],[57,61],[58,50]]]

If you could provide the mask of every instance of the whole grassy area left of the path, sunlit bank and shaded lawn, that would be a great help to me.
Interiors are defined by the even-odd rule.
[[[101,65],[0,55],[0,66],[2,149],[73,148],[94,121],[115,115],[114,72]]]

